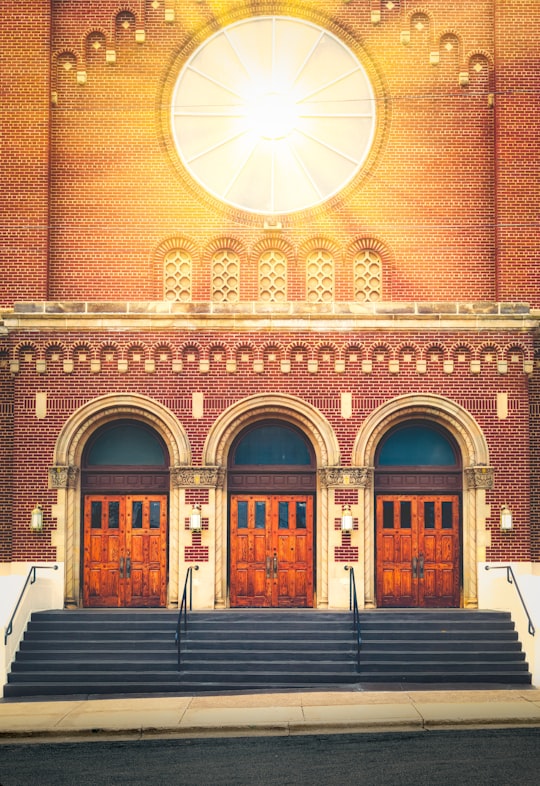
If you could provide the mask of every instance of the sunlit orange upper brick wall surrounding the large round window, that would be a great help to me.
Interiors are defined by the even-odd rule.
[[[52,111],[50,299],[160,299],[162,275],[154,253],[164,240],[182,233],[197,250],[200,277],[193,298],[205,300],[208,245],[219,237],[233,237],[248,255],[264,236],[260,219],[210,203],[181,174],[169,138],[167,107],[174,75],[188,54],[188,42],[200,38],[212,22],[211,7],[185,0],[176,4],[176,19],[169,24],[164,21],[163,3],[157,9],[141,4],[139,16],[136,5],[130,14],[121,12],[122,5],[116,2],[52,4],[51,81],[58,103]],[[528,116],[534,116],[530,91],[539,69],[526,54],[527,31],[538,12],[517,0],[497,5],[505,9],[497,21],[498,79],[501,90],[508,87],[511,97],[501,98],[500,103],[497,99],[494,110],[487,98],[494,84],[492,2],[471,7],[427,0],[424,11],[411,17],[410,4],[406,8],[395,2],[388,9],[375,0],[371,8],[380,7],[379,24],[372,23],[368,4],[250,4],[250,9],[261,13],[281,10],[324,21],[345,40],[350,40],[349,34],[354,36],[362,43],[364,55],[359,53],[377,91],[380,130],[366,176],[332,209],[284,219],[282,237],[293,249],[322,236],[344,253],[355,238],[378,238],[389,252],[384,270],[388,300],[484,300],[499,295],[538,302],[533,233],[524,237],[527,226],[515,228],[516,216],[530,217],[536,200],[531,199],[530,189],[522,188],[516,200],[523,162],[510,154],[523,142],[530,152],[533,141],[532,132],[525,130],[528,124],[522,122],[522,109],[525,106]],[[239,7],[220,4],[220,24],[239,18]],[[20,48],[28,51],[28,18],[16,22],[25,42]],[[32,35],[38,39],[31,47],[35,63],[28,69],[27,60],[21,59],[14,85],[14,91],[19,90],[14,101],[30,91],[32,105],[42,113],[30,120],[34,130],[46,129],[48,114],[47,23],[45,13],[43,26],[32,17]],[[135,42],[137,29],[144,29],[144,43]],[[441,33],[447,30],[454,32]],[[402,33],[410,37],[406,45]],[[518,64],[510,62],[514,38]],[[106,63],[107,51],[115,52],[114,64]],[[432,54],[439,58],[437,65],[430,62]],[[79,73],[85,75],[84,84],[77,83]],[[459,85],[460,73],[468,75],[468,86]],[[522,90],[526,97],[518,99]],[[160,103],[165,105],[163,114],[158,111]],[[19,152],[29,162],[28,171],[40,178],[41,188],[46,181],[46,131],[41,137],[38,134],[43,144],[37,146],[34,133],[16,136]],[[527,161],[536,158],[529,156]],[[497,200],[495,160],[500,163]],[[46,210],[46,190],[34,185],[35,180],[31,198],[41,200],[40,209]],[[18,179],[10,186],[20,196]],[[496,202],[499,222],[506,227],[500,237],[498,279]],[[31,220],[40,228],[46,225],[44,215]],[[42,245],[22,254],[14,252],[8,260],[17,286],[6,289],[7,302],[33,299],[44,287],[43,276],[33,275],[31,282],[28,277],[20,280],[22,270],[35,269],[32,259],[39,258],[43,268],[46,234],[40,229],[38,235]],[[523,253],[516,265],[518,248]],[[302,263],[301,255],[294,255],[292,298],[305,297]],[[243,299],[252,299],[254,277],[253,264],[246,264],[241,273]],[[350,299],[350,290],[346,280],[338,283],[337,299]]]

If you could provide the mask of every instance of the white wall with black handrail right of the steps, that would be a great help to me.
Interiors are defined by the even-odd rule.
[[[486,570],[488,565],[489,570]],[[536,628],[534,636],[528,631],[529,623],[513,584],[506,579],[501,566],[511,565],[523,600]],[[497,567],[499,566],[499,567]],[[497,568],[497,569],[493,569]],[[525,651],[532,673],[533,684],[540,685],[540,564],[531,562],[479,562],[478,605],[481,609],[509,611],[516,625],[519,640]]]

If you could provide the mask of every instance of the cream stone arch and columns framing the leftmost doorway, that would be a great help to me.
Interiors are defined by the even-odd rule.
[[[79,606],[81,594],[81,461],[88,439],[101,426],[129,418],[151,426],[163,439],[171,471],[191,463],[187,435],[174,414],[157,401],[136,394],[111,394],[88,402],[65,422],[56,441],[50,485],[57,490],[53,514],[57,529],[52,544],[57,559],[65,562],[65,604]],[[169,592],[168,603],[178,601],[178,554],[180,489],[171,484],[169,498]]]

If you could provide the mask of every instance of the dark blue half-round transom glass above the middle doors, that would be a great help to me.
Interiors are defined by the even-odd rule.
[[[307,465],[311,456],[305,440],[286,426],[254,428],[238,443],[234,452],[236,466],[254,464]]]

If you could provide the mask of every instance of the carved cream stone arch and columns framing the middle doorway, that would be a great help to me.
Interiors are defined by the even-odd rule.
[[[300,398],[282,394],[257,394],[242,399],[223,412],[212,426],[203,451],[203,466],[225,468],[235,437],[252,423],[278,419],[300,429],[311,441],[318,468],[340,463],[334,430],[324,415]],[[328,489],[317,486],[317,606],[328,606]],[[227,603],[227,488],[216,489],[215,499],[215,605]]]

